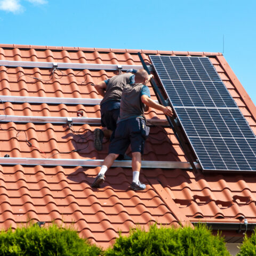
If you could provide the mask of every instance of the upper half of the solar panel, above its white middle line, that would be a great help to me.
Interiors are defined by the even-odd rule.
[[[172,56],[150,58],[174,107],[237,107],[209,59]]]

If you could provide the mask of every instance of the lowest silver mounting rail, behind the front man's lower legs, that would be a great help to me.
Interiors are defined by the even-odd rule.
[[[57,159],[57,158],[22,158],[22,157],[0,157],[1,165],[52,165],[52,166],[101,166],[103,159]],[[199,164],[195,163],[199,168]],[[132,167],[132,161],[115,161],[113,167]],[[163,169],[191,169],[188,162],[172,161],[141,161],[142,168]]]

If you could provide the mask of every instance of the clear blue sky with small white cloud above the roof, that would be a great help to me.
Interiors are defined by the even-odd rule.
[[[256,104],[256,1],[0,0],[2,44],[223,52]]]

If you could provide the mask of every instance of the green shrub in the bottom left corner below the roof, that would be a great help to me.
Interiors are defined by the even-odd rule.
[[[0,255],[100,255],[101,249],[78,236],[71,228],[59,228],[53,224],[20,227],[0,233]]]

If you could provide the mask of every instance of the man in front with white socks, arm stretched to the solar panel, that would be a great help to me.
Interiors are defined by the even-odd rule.
[[[114,163],[119,154],[124,154],[131,144],[133,190],[143,190],[145,184],[140,183],[139,174],[141,167],[141,155],[145,147],[145,140],[149,134],[144,115],[146,106],[163,111],[167,116],[172,116],[172,109],[164,107],[150,99],[150,91],[146,86],[152,75],[148,75],[145,69],[139,69],[135,74],[135,83],[127,85],[122,93],[120,117],[118,118],[115,137],[110,142],[109,154],[104,159],[101,170],[92,183],[92,187],[98,188],[105,181],[105,173]]]

